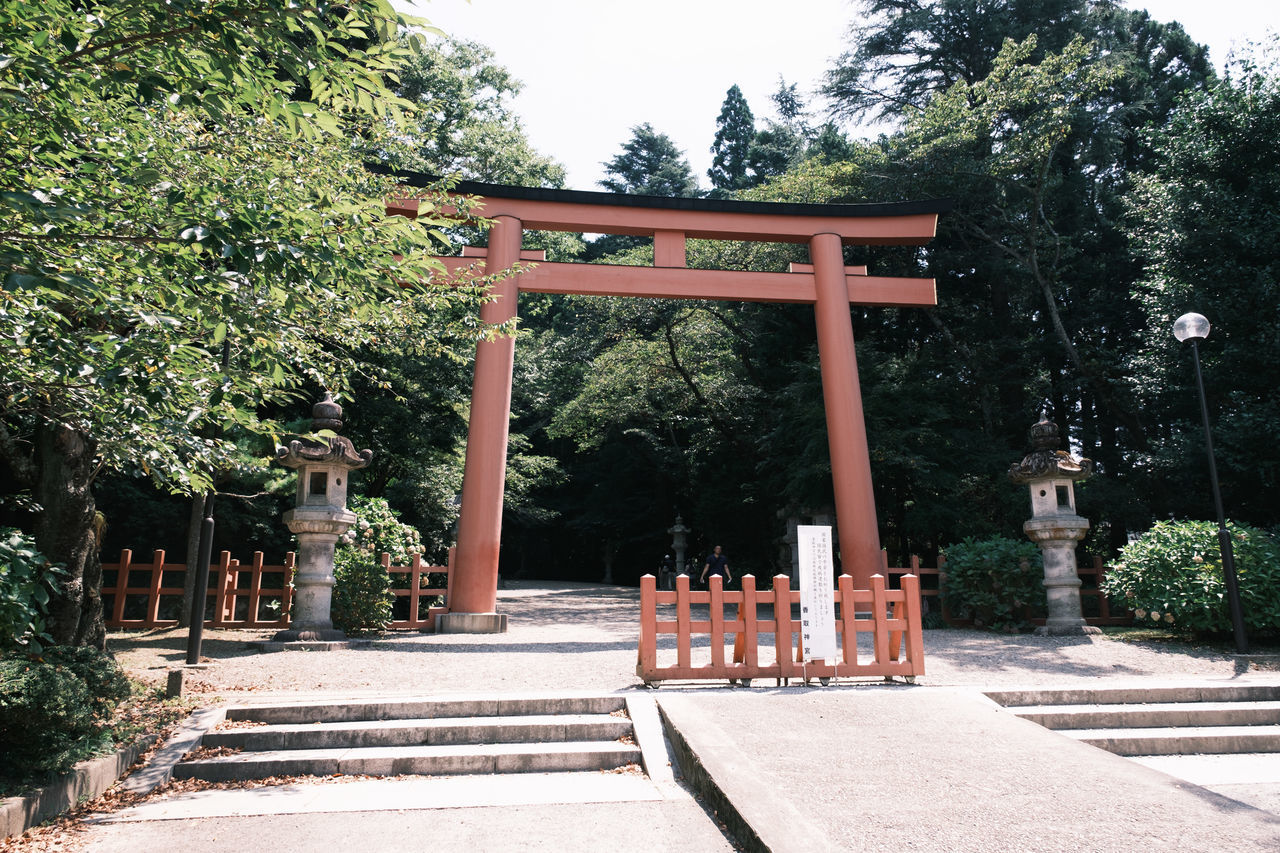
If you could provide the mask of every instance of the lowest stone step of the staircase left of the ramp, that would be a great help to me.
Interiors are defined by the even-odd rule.
[[[640,748],[621,742],[564,742],[366,747],[243,752],[187,761],[175,779],[241,781],[266,776],[334,774],[436,776],[451,774],[566,772],[616,770],[640,763]]]

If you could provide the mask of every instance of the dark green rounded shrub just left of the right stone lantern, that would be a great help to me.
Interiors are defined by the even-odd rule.
[[[1044,574],[1039,548],[1007,537],[947,546],[942,596],[952,613],[978,628],[1016,631],[1028,626],[1027,608],[1044,608]]]

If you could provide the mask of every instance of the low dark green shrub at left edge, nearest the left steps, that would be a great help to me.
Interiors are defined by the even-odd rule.
[[[61,771],[106,745],[102,731],[129,681],[104,652],[55,647],[0,658],[3,774]]]

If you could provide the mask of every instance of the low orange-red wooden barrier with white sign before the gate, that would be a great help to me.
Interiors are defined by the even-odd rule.
[[[710,589],[694,592],[687,575],[676,578],[675,592],[659,592],[657,578],[645,575],[640,579],[636,675],[645,684],[718,679],[750,684],[755,678],[773,678],[780,685],[794,678],[805,683],[817,678],[826,683],[846,676],[887,679],[899,675],[910,680],[923,675],[919,579],[904,575],[901,589],[888,589],[882,575],[872,575],[870,587],[854,589],[852,578],[840,576],[832,590],[840,658],[833,663],[806,662],[801,624],[792,615],[792,606],[800,603],[800,590],[791,589],[786,575],[773,579],[773,589],[756,589],[755,578],[744,575],[741,592],[726,592],[719,576],[710,578]],[[726,612],[728,605],[733,606],[732,612]],[[699,619],[694,619],[695,607]],[[660,637],[672,634],[675,649],[659,642]],[[726,658],[726,634],[733,635],[732,660]],[[695,642],[700,635],[707,635],[707,640]],[[859,648],[859,635],[867,638],[864,649]],[[762,656],[762,649],[769,651],[769,639],[772,656]],[[695,646],[698,662],[694,661]]]

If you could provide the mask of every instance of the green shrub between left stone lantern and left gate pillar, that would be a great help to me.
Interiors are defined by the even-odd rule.
[[[381,565],[403,566],[422,552],[417,530],[402,524],[383,498],[355,497],[348,508],[356,523],[334,552],[333,624],[351,635],[376,634],[392,621],[392,580]]]

